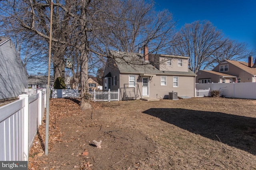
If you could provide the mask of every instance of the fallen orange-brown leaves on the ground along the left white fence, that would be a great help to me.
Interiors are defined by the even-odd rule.
[[[77,115],[79,113],[79,109],[80,106],[70,99],[50,99],[48,150],[52,150],[55,143],[63,142],[62,136],[64,133],[60,131],[60,127],[58,125],[60,119]],[[38,165],[44,162],[45,121],[44,115],[42,125],[38,128],[38,133],[29,152],[29,170],[38,169]],[[71,139],[65,142],[69,143],[73,140],[74,139]],[[68,145],[66,145],[66,147],[68,147]],[[38,160],[38,157],[40,157],[40,160]],[[49,169],[48,167],[45,168]]]

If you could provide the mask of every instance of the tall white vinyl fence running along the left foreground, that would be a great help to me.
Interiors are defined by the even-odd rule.
[[[38,91],[0,107],[0,160],[28,161],[28,153],[41,125],[46,93]]]

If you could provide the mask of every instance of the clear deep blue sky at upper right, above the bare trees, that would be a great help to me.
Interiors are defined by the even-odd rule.
[[[226,37],[256,49],[256,0],[154,0],[157,10],[168,9],[177,29],[185,23],[209,20]]]

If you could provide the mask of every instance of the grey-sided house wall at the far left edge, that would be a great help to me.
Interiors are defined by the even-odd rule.
[[[0,37],[0,61],[0,100],[16,98],[28,87],[28,72],[9,37]]]

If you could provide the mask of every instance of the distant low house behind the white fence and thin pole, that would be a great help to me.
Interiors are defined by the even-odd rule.
[[[48,76],[28,76],[28,88],[46,88]],[[54,78],[50,76],[50,88],[53,87]]]

